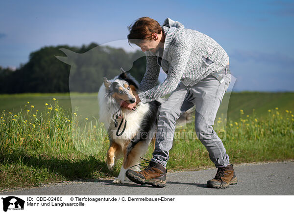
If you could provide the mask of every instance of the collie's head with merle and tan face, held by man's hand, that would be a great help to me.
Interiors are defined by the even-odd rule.
[[[106,92],[108,95],[112,96],[117,103],[121,103],[121,101],[126,101],[130,104],[135,103],[136,98],[134,93],[138,92],[138,83],[134,81],[129,74],[126,74],[123,68],[121,68],[121,71],[122,74],[113,82],[105,77],[103,78]]]

